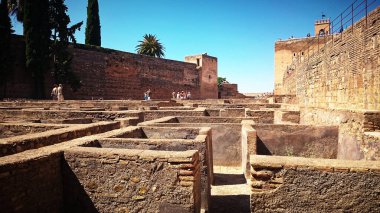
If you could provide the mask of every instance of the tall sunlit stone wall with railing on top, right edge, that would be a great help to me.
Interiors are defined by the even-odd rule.
[[[335,34],[311,57],[294,63],[283,90],[303,107],[380,109],[380,8]]]

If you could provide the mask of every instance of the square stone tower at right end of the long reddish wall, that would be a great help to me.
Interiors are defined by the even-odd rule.
[[[200,97],[202,99],[218,98],[218,59],[207,55],[207,53],[186,56],[185,62],[197,65],[199,69]]]

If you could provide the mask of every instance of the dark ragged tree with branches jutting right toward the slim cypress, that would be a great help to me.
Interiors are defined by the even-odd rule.
[[[68,83],[76,91],[80,88],[79,78],[71,69],[72,54],[68,51],[69,40],[76,42],[74,33],[80,30],[83,22],[79,22],[70,28],[70,17],[67,15],[67,6],[64,0],[50,0],[49,15],[50,27],[52,31],[52,42],[50,44],[51,58],[54,69],[52,72],[54,82]]]

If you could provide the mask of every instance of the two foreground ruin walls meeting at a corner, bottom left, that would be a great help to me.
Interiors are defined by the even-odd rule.
[[[63,147],[2,158],[3,212],[200,212],[196,150]]]

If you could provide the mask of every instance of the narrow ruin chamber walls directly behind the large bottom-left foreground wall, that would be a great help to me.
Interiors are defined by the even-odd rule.
[[[210,128],[195,127],[127,127],[115,130],[106,138],[83,146],[103,149],[155,151],[197,150],[200,156],[202,209],[208,210],[213,183],[213,155]]]

